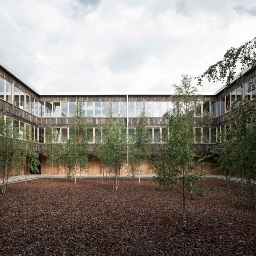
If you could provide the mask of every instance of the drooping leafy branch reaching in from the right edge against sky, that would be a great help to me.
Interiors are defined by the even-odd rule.
[[[256,65],[256,37],[239,47],[231,47],[223,59],[210,66],[202,75],[196,77],[198,85],[203,85],[203,79],[209,82],[226,82],[229,85],[236,75],[237,66],[241,70]],[[243,78],[243,77],[241,77]]]

